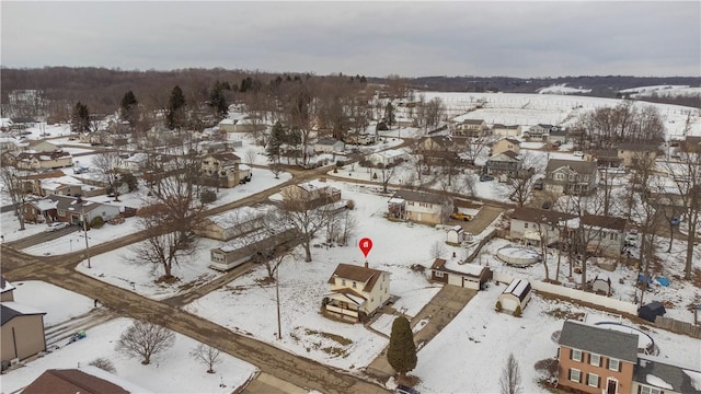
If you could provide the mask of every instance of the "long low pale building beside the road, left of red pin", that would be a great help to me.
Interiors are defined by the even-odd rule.
[[[296,229],[265,229],[258,228],[253,232],[209,250],[209,268],[226,271],[249,260],[273,258],[283,248],[292,248],[300,243]]]

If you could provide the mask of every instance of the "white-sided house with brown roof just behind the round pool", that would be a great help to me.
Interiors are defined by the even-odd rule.
[[[509,237],[527,245],[550,245],[566,239],[564,224],[574,219],[574,215],[549,209],[520,207],[512,213]]]

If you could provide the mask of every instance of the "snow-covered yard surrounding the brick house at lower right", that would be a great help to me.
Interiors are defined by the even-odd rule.
[[[607,316],[598,311],[566,302],[532,297],[520,318],[494,311],[505,285],[491,285],[480,291],[440,334],[418,351],[418,363],[411,374],[421,379],[422,393],[498,393],[499,376],[509,354],[519,363],[524,393],[542,393],[533,364],[554,357],[558,345],[551,335],[562,329],[564,320],[554,315],[579,313],[587,323],[613,321],[635,326],[630,321]],[[555,313],[559,312],[559,313]],[[668,362],[698,369],[701,364],[699,340],[665,331],[646,331]],[[441,366],[437,368],[437,366]]]

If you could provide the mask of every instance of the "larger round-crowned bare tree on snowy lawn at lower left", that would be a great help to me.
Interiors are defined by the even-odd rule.
[[[141,357],[141,363],[151,363],[151,357],[170,349],[175,344],[175,334],[170,329],[143,322],[135,321],[117,340],[115,350],[129,357]]]

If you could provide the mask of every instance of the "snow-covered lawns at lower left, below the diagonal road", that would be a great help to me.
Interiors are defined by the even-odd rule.
[[[93,301],[87,297],[42,281],[18,281],[16,302],[46,312],[44,323],[55,325],[89,312]],[[117,318],[89,328],[85,338],[54,349],[46,356],[27,362],[24,367],[2,375],[1,390],[12,393],[35,380],[47,369],[80,368],[103,357],[112,361],[116,375],[138,384],[153,393],[231,393],[243,384],[256,368],[234,357],[221,354],[221,363],[216,373],[206,373],[206,368],[188,354],[198,343],[176,334],[175,345],[158,355],[149,366],[140,360],[127,358],[115,351],[114,346],[131,324],[129,318]],[[227,386],[220,387],[223,382]]]

